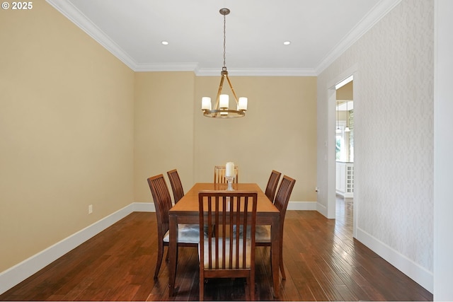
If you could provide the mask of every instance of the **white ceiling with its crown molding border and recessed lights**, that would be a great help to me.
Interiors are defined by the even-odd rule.
[[[315,76],[399,1],[47,0],[134,71],[197,75],[222,70],[219,9],[229,8],[226,67],[232,76]]]

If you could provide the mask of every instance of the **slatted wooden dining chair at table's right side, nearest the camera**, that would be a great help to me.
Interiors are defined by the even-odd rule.
[[[283,175],[280,187],[275,195],[275,207],[280,211],[280,272],[282,279],[286,279],[285,269],[283,268],[283,225],[285,223],[285,214],[288,207],[289,197],[296,180]],[[256,246],[271,246],[270,226],[256,226]],[[272,253],[272,250],[270,250]]]

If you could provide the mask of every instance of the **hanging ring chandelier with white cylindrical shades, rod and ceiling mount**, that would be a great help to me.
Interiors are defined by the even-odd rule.
[[[246,115],[247,110],[247,98],[238,98],[236,93],[234,92],[233,86],[231,86],[231,81],[229,81],[228,71],[226,71],[225,65],[225,28],[226,28],[226,15],[229,14],[228,8],[221,8],[220,14],[224,16],[224,66],[222,67],[221,78],[220,78],[220,85],[219,90],[217,91],[217,97],[215,98],[215,106],[214,109],[211,107],[211,98],[204,96],[202,97],[202,105],[201,109],[203,111],[203,115],[205,117],[214,117],[214,118],[235,118],[235,117],[243,117]],[[233,93],[234,100],[236,101],[236,109],[229,108],[229,95],[222,94],[222,88],[224,85],[224,80],[228,82],[229,88],[231,88],[231,92]]]

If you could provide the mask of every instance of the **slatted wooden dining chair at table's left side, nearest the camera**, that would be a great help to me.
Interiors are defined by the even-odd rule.
[[[154,207],[156,207],[157,216],[157,261],[156,269],[154,271],[154,278],[159,275],[161,269],[162,259],[164,257],[164,247],[168,248],[169,243],[169,226],[168,211],[170,211],[171,197],[168,191],[168,186],[164,180],[164,175],[159,174],[148,178],[149,188],[154,199]],[[200,229],[197,225],[178,225],[178,247],[198,247],[200,240]],[[168,257],[168,250],[167,250]],[[178,252],[176,252],[178,257]],[[178,261],[176,260],[176,263]]]

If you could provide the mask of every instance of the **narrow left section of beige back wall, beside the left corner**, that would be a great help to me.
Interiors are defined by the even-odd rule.
[[[193,72],[135,74],[135,202],[151,202],[147,178],[178,169],[185,191],[193,183]]]

